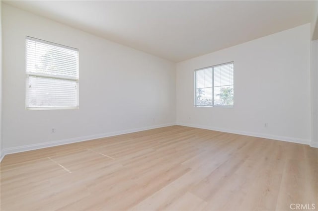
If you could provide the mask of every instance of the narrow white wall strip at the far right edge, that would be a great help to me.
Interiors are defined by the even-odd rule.
[[[312,142],[318,147],[318,40],[312,41]]]

